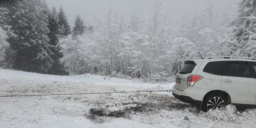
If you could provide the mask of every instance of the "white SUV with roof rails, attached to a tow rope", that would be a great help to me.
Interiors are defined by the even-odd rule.
[[[199,105],[205,112],[228,104],[238,109],[255,107],[255,58],[208,57],[184,64],[172,89],[177,99]]]

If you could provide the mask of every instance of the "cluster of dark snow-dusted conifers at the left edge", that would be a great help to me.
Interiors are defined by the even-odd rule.
[[[68,75],[60,63],[59,38],[87,30],[78,14],[70,28],[62,6],[49,9],[45,0],[0,2],[0,62],[4,68]]]

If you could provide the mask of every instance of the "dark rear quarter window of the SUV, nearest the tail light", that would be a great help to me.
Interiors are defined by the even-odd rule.
[[[211,73],[214,75],[222,75],[224,61],[209,62],[205,65],[203,72]]]

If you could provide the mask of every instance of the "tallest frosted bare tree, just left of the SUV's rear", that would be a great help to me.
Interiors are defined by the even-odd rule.
[[[162,2],[154,2],[151,6],[151,13],[146,17],[146,34],[145,42],[147,52],[147,77],[149,82],[157,82],[167,77],[164,64],[166,63],[166,46],[170,45],[168,38],[172,30],[168,27],[172,20],[170,12],[163,12]]]

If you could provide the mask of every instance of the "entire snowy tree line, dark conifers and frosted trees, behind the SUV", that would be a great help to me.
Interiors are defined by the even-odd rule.
[[[49,9],[43,0],[2,1],[1,66],[54,75],[92,73],[145,82],[173,81],[187,59],[209,56],[255,57],[256,0],[241,0],[238,15],[214,12],[208,3],[200,12],[173,20],[162,2],[150,13],[129,18],[113,8],[104,19],[94,16],[86,27],[78,14],[70,28],[64,9]],[[179,23],[172,29],[170,24]]]

